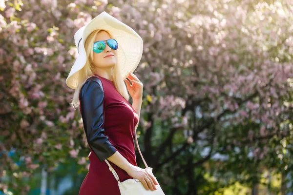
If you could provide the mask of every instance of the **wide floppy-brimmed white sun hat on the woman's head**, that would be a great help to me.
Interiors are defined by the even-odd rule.
[[[117,66],[121,66],[122,77],[126,78],[138,66],[143,54],[143,39],[125,23],[117,20],[106,12],[102,12],[87,25],[81,27],[74,34],[75,45],[79,56],[71,67],[70,73],[66,78],[66,84],[72,89],[78,86],[79,70],[86,62],[84,48],[85,39],[97,29],[104,29],[110,33],[113,39],[118,42]]]

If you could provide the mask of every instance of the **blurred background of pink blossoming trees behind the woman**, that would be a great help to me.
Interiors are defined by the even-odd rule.
[[[292,0],[0,0],[0,195],[78,195],[65,79],[103,11],[144,40],[137,134],[166,195],[293,195]]]

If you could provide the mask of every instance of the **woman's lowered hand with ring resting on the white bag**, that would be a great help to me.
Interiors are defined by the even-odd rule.
[[[153,176],[153,174],[149,173],[146,169],[142,169],[140,167],[130,165],[126,173],[135,179],[139,179],[140,182],[142,182],[142,184],[146,188],[146,190],[148,189],[157,190],[155,186],[155,185],[158,185],[156,178]]]

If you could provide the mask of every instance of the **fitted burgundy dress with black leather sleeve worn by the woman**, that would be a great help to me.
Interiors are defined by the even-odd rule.
[[[94,74],[81,88],[80,111],[89,153],[89,171],[79,195],[120,195],[118,182],[105,159],[119,151],[128,162],[137,166],[134,128],[139,116],[131,104],[116,90],[113,81]],[[121,182],[133,178],[108,160]]]

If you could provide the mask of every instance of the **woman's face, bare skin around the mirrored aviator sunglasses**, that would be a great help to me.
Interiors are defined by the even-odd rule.
[[[109,34],[105,31],[100,31],[95,39],[95,42],[99,40],[107,40],[111,39]],[[118,43],[119,44],[119,43]],[[118,46],[119,47],[119,46]],[[106,43],[105,49],[97,54],[96,52],[93,52],[94,57],[93,57],[93,62],[94,65],[99,67],[99,68],[111,68],[114,67],[117,63],[117,50],[113,50],[109,47],[109,45]],[[113,55],[110,57],[106,57],[108,55]]]

